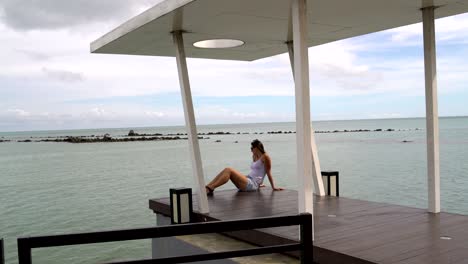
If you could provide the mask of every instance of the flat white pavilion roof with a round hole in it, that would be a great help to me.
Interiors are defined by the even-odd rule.
[[[164,0],[91,43],[91,52],[175,56],[172,31],[183,30],[187,57],[252,61],[287,52],[290,0]],[[468,12],[468,0],[308,0],[309,46]],[[422,30],[422,28],[421,28]],[[206,39],[238,39],[243,46],[201,49]]]

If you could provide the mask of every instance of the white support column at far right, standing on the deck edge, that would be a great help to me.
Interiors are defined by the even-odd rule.
[[[426,83],[426,137],[428,211],[440,213],[439,114],[434,26],[435,7],[422,9]]]

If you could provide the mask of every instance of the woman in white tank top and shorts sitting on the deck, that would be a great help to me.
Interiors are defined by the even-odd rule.
[[[206,193],[212,195],[213,191],[229,180],[241,191],[256,191],[263,183],[265,175],[268,176],[271,188],[275,191],[281,191],[283,188],[275,187],[273,176],[271,175],[271,158],[265,152],[262,142],[256,139],[252,141],[250,150],[252,151],[252,165],[249,175],[245,176],[233,168],[222,170],[208,185]]]

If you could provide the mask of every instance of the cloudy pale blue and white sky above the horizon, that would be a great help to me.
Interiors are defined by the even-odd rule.
[[[0,131],[183,125],[176,61],[90,54],[160,0],[0,0]],[[440,116],[468,115],[468,15],[436,20]],[[422,24],[309,49],[312,120],[425,116]],[[289,57],[188,59],[197,124],[295,120]]]

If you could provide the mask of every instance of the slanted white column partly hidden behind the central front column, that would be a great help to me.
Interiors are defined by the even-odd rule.
[[[286,43],[288,45],[289,60],[291,62],[291,68],[294,77],[294,46],[292,41]],[[312,127],[312,121],[310,122],[311,129],[311,138],[310,138],[310,148],[312,150],[312,178],[314,180],[314,192],[317,195],[325,196],[325,189],[323,187],[322,172],[320,168],[320,160],[318,157],[317,144],[315,142],[315,133]]]

